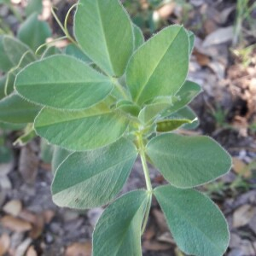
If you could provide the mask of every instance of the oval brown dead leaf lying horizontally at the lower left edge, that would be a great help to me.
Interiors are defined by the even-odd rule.
[[[1,218],[1,224],[3,224],[5,228],[15,232],[25,232],[32,230],[32,224],[13,216],[5,216]]]

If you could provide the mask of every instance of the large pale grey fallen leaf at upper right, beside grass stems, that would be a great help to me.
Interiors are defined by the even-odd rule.
[[[207,36],[207,38],[205,38],[202,46],[204,48],[207,48],[214,44],[227,43],[232,40],[233,32],[234,32],[233,26],[218,28],[215,32],[212,32]]]

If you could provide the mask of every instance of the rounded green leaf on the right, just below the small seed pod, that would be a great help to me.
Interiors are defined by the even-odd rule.
[[[210,137],[163,134],[147,145],[147,154],[168,182],[192,188],[230,171],[230,155]]]

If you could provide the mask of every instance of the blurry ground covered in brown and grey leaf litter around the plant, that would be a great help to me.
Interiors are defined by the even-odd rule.
[[[64,19],[73,1],[53,2],[59,7],[57,14]],[[211,195],[228,220],[231,236],[226,255],[256,255],[255,24],[236,15],[236,1],[175,1],[156,9],[147,1],[123,2],[147,38],[160,26],[172,23],[183,23],[195,32],[189,79],[201,84],[204,90],[191,103],[201,125],[196,131],[181,132],[207,134],[232,155],[230,173],[201,190]],[[22,12],[25,2],[14,3]],[[256,9],[250,15],[255,20]],[[15,31],[18,22],[9,9],[0,5],[0,16]],[[148,17],[156,17],[159,25]],[[49,16],[46,19],[55,34],[60,35],[55,21]],[[77,212],[56,207],[50,195],[53,174],[40,154],[40,140],[37,138],[23,148],[11,147],[17,133],[7,133],[13,157],[0,164],[0,256],[90,255],[91,234],[103,209]],[[154,185],[164,183],[159,172],[150,171]],[[123,192],[142,187],[143,171],[137,160]],[[156,201],[143,236],[143,255],[183,255]]]

